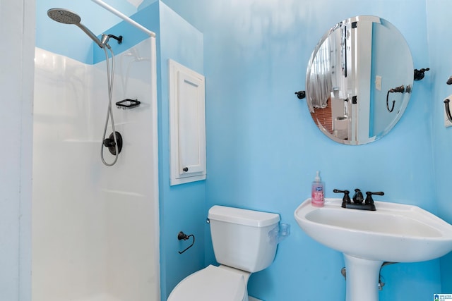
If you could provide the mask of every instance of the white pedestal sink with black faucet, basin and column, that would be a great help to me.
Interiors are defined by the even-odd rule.
[[[295,219],[311,238],[343,252],[347,301],[378,301],[383,262],[422,262],[452,250],[452,225],[416,206],[375,201],[376,211],[345,209],[342,199],[324,207],[305,200]]]

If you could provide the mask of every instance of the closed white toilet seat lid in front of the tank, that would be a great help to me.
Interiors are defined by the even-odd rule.
[[[212,300],[248,300],[244,276],[209,265],[179,282],[167,299],[167,301]]]

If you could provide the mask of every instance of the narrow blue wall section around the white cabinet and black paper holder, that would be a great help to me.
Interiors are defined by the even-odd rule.
[[[140,11],[141,13],[141,11]],[[168,59],[203,74],[203,35],[177,13],[159,2],[160,69],[159,93],[159,185],[160,264],[162,300],[185,276],[204,265],[206,229],[206,181],[169,186]],[[194,234],[196,243],[184,254],[190,241],[177,240],[179,231]]]

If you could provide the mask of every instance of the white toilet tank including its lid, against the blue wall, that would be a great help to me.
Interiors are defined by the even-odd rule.
[[[209,209],[213,252],[219,264],[254,273],[275,259],[279,214],[213,206]]]

